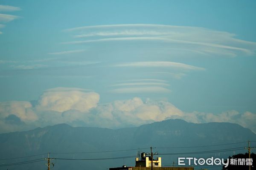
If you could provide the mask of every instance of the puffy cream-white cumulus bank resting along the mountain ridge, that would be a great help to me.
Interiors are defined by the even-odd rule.
[[[131,127],[166,119],[187,122],[231,122],[256,133],[256,114],[225,111],[218,114],[186,113],[167,101],[134,97],[100,105],[99,94],[81,88],[53,88],[30,102],[0,102],[0,133],[27,130],[38,126],[68,123],[73,126]]]

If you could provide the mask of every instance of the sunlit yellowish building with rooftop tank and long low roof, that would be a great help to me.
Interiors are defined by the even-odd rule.
[[[135,167],[127,167],[123,165],[122,167],[109,168],[109,170],[151,170],[151,164],[153,164],[153,170],[194,170],[194,167],[162,167],[161,157],[152,159],[153,156],[151,158],[151,156],[147,155],[147,153],[141,153],[141,157],[137,157],[135,160]]]

